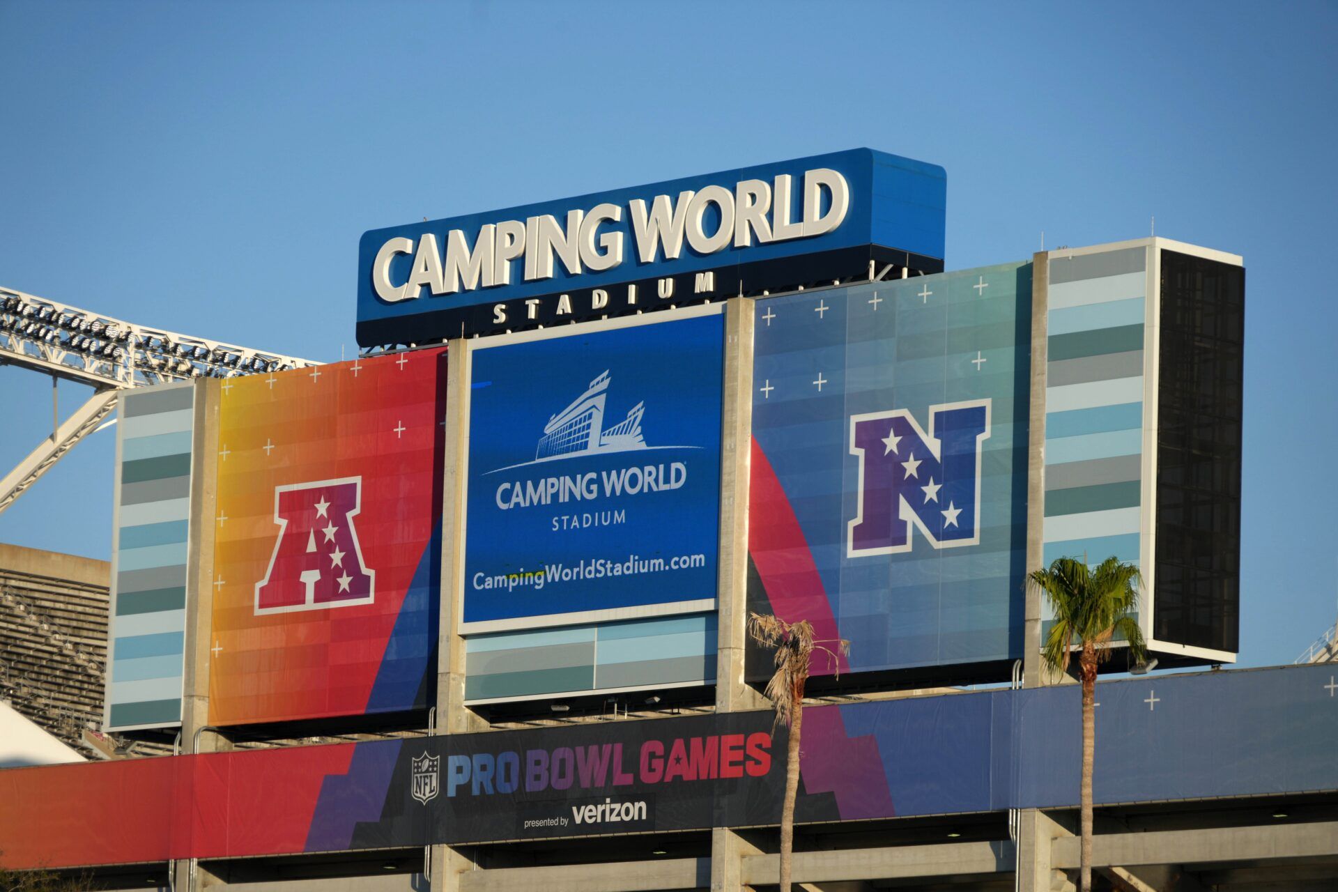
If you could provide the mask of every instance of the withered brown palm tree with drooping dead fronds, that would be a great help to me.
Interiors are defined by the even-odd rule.
[[[780,722],[789,728],[785,746],[785,801],[780,812],[780,892],[789,892],[791,856],[795,849],[795,797],[799,793],[799,732],[804,719],[804,683],[815,650],[832,658],[840,673],[836,653],[848,654],[850,642],[838,641],[836,650],[814,641],[814,627],[807,619],[787,623],[776,617],[752,614],[748,633],[759,645],[776,649],[776,671],[767,682],[767,698],[776,710],[775,729]]]

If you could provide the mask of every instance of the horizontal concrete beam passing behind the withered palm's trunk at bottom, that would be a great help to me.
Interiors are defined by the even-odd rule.
[[[1012,872],[1013,863],[1014,849],[1008,841],[796,852],[792,879],[795,883],[832,883],[997,873]],[[745,885],[773,885],[777,876],[780,876],[779,855],[753,855],[744,859]]]

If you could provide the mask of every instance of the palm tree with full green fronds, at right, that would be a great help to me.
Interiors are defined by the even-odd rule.
[[[1145,647],[1135,614],[1143,574],[1137,566],[1107,558],[1088,568],[1085,560],[1056,558],[1046,570],[1029,575],[1032,586],[1045,592],[1054,608],[1054,625],[1045,639],[1042,657],[1053,673],[1069,669],[1073,647],[1078,647],[1078,674],[1082,681],[1082,786],[1078,888],[1092,888],[1092,762],[1096,756],[1096,669],[1111,658],[1111,642],[1128,643],[1129,661],[1143,662]]]

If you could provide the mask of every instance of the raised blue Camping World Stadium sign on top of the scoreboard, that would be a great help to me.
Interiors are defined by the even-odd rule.
[[[941,167],[867,148],[379,229],[363,346],[943,267]],[[876,197],[876,201],[875,201]]]

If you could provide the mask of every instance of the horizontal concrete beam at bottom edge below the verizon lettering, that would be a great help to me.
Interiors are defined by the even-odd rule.
[[[654,892],[710,885],[710,859],[495,868],[460,875],[460,892]]]

